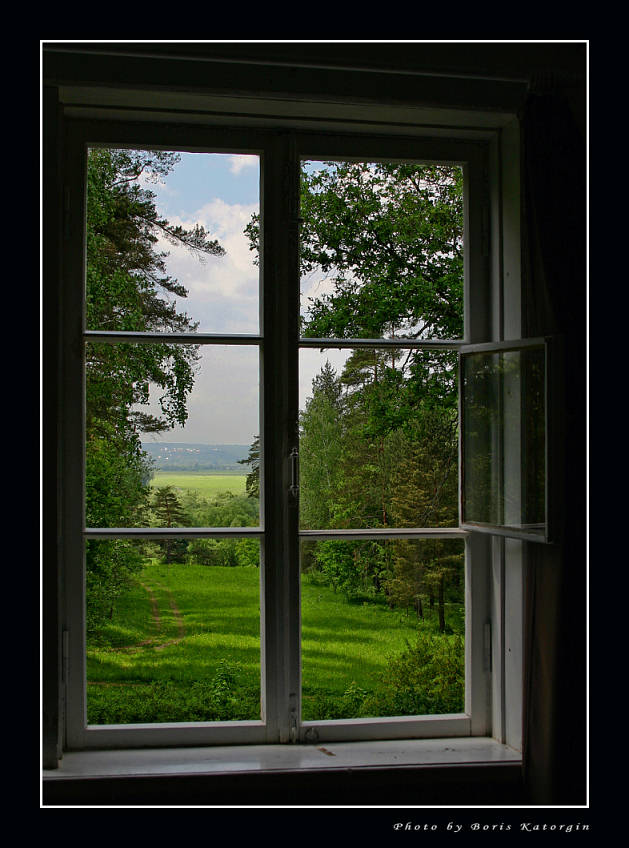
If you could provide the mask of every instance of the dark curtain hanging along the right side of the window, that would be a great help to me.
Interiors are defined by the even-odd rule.
[[[561,535],[527,545],[524,781],[533,804],[584,804],[586,148],[578,100],[541,88],[521,114],[523,314],[525,335],[563,339],[561,426],[549,445]]]

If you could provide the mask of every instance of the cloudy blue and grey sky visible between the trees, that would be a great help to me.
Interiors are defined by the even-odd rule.
[[[257,156],[181,153],[162,183],[146,185],[163,217],[184,227],[203,225],[226,251],[201,263],[183,247],[164,240],[156,245],[169,253],[168,273],[188,289],[187,298],[175,298],[178,310],[198,321],[200,332],[259,333],[258,268],[243,232],[259,210],[259,182]],[[321,293],[322,285],[316,274],[303,280],[302,298],[315,287]],[[259,434],[257,346],[203,345],[200,352],[186,426],[144,434],[145,442],[248,445]],[[300,406],[325,360],[338,368],[347,355],[310,349],[300,353]]]

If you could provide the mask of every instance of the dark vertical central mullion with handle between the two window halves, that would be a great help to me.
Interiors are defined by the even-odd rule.
[[[273,138],[262,185],[263,711],[268,741],[297,738],[300,701],[298,499],[299,167],[294,139]]]

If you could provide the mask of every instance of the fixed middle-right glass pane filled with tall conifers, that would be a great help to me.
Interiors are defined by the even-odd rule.
[[[457,355],[300,351],[300,524],[458,525]]]

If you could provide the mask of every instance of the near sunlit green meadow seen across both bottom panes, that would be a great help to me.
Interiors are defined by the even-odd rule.
[[[148,563],[88,647],[90,723],[259,719],[259,569]],[[302,581],[304,718],[373,690],[413,617]]]

